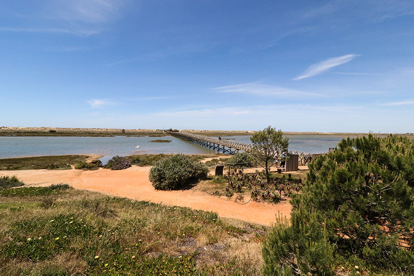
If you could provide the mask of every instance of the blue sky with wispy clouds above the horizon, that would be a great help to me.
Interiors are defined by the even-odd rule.
[[[0,126],[414,133],[414,1],[3,1],[0,99]]]

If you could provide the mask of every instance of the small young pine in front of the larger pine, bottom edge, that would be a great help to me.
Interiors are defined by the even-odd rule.
[[[262,247],[265,276],[333,276],[334,246],[315,214],[292,214],[290,222],[278,218]]]

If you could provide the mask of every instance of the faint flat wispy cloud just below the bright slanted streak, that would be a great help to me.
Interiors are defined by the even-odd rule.
[[[222,87],[213,88],[220,92],[227,93],[245,93],[254,95],[278,95],[278,96],[294,96],[294,95],[308,95],[308,96],[320,96],[320,94],[304,92],[289,88],[283,88],[273,85],[266,85],[257,82],[242,83],[236,85],[227,85]]]

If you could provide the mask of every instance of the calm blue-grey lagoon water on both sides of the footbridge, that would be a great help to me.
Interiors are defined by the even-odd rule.
[[[250,142],[250,136],[224,137]],[[322,153],[335,147],[343,137],[331,135],[289,136],[289,150]],[[155,139],[172,140],[170,143],[150,142]],[[137,149],[136,146],[139,145]],[[114,155],[144,153],[214,154],[216,151],[180,140],[175,137],[0,137],[0,158],[42,155],[100,154],[105,163]]]

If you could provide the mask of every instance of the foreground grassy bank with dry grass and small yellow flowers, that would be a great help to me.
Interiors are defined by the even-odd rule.
[[[261,275],[267,229],[68,186],[0,191],[0,275]]]

